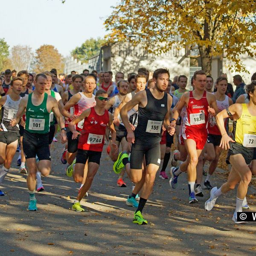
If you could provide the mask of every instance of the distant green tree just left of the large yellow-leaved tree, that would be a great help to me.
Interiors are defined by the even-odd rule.
[[[76,58],[78,58],[79,61],[86,63],[89,58],[99,54],[99,50],[105,42],[106,41],[102,38],[90,38],[87,39],[80,47],[76,47],[76,49],[71,53],[72,55],[76,55]]]

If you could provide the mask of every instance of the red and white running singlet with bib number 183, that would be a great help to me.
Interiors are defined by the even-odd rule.
[[[186,128],[206,129],[208,121],[208,101],[206,91],[201,99],[193,97],[193,91],[189,92],[189,103],[185,111]]]

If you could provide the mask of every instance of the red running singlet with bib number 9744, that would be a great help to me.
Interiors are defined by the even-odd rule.
[[[79,138],[78,148],[83,150],[102,152],[104,135],[109,122],[108,111],[99,116],[94,108],[90,108],[90,115],[84,118],[84,127]]]

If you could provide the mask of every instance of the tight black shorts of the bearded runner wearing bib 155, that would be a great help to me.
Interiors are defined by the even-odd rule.
[[[143,157],[145,155],[146,166],[150,163],[154,163],[160,166],[160,143],[152,141],[148,138],[148,141],[135,138],[135,143],[131,145],[131,169],[142,169]]]

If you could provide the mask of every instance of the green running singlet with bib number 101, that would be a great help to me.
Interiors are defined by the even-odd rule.
[[[49,133],[50,128],[50,113],[47,111],[48,94],[44,93],[44,100],[39,106],[32,103],[32,94],[29,94],[28,103],[26,106],[26,131],[38,134]]]

